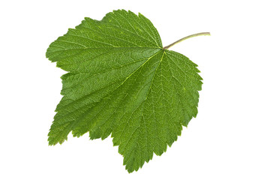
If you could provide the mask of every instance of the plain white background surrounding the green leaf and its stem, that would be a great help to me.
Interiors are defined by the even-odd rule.
[[[256,179],[254,1],[1,1],[0,179]],[[161,157],[128,174],[108,137],[47,133],[65,74],[45,58],[49,44],[91,17],[123,8],[143,15],[163,45],[191,58],[203,77],[199,113]]]

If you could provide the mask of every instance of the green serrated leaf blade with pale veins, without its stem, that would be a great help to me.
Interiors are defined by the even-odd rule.
[[[49,144],[72,131],[91,139],[112,134],[128,172],[161,155],[197,115],[201,77],[185,55],[163,48],[142,14],[114,10],[88,17],[47,49],[47,58],[68,71]]]

